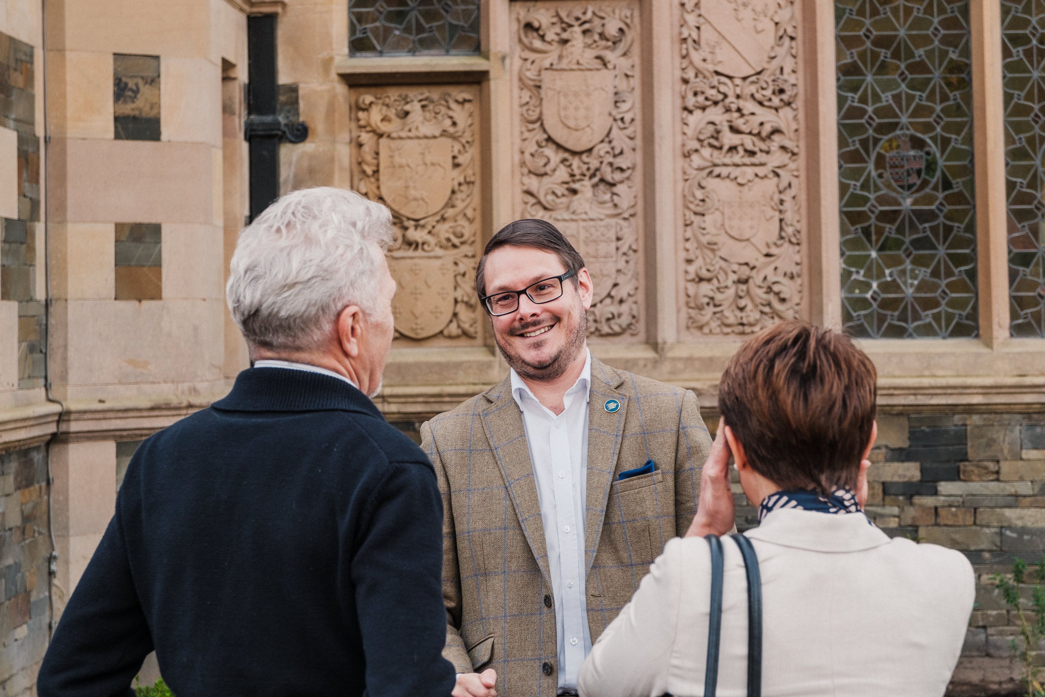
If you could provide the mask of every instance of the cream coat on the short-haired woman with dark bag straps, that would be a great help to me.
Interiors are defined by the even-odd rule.
[[[889,539],[862,513],[777,510],[746,533],[762,572],[766,697],[944,694],[975,595],[960,553]],[[725,556],[718,695],[745,695],[747,584],[737,544]],[[582,697],[703,695],[711,554],[676,538],[599,637]]]

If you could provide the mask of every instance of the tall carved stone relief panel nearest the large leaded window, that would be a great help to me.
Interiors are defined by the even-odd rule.
[[[686,326],[798,318],[794,0],[680,0]]]

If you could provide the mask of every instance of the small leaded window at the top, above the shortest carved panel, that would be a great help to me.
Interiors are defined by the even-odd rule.
[[[480,0],[349,0],[350,55],[479,53]]]

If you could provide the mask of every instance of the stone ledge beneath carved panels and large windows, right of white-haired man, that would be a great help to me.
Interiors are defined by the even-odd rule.
[[[714,413],[718,380],[743,342],[593,344],[607,364],[693,390]],[[863,341],[879,371],[883,413],[1045,412],[1045,341]],[[508,373],[490,348],[394,349],[378,406],[390,419],[423,420],[495,385]]]

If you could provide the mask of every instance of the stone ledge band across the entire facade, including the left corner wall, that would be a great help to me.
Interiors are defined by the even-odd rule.
[[[717,415],[718,379],[742,342],[591,345],[609,365],[693,390]],[[1045,341],[860,342],[879,370],[883,414],[1045,412]],[[508,366],[488,347],[396,348],[375,398],[392,421],[423,421],[504,379]],[[201,382],[55,386],[67,402],[63,440],[142,438],[220,398],[231,379]],[[0,392],[0,449],[46,440],[59,408],[43,389]]]

